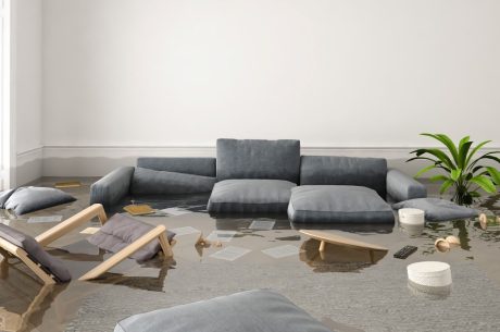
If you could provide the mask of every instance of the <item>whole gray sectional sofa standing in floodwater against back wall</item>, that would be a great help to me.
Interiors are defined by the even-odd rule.
[[[211,213],[284,213],[296,223],[393,222],[387,201],[426,187],[382,158],[301,156],[292,139],[217,139],[215,158],[139,158],[91,186],[105,207],[126,196],[211,193]]]

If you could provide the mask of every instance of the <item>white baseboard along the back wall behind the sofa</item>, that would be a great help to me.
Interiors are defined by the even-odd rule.
[[[412,147],[303,147],[302,155],[386,158],[391,168],[415,174],[425,165],[405,161]],[[487,149],[485,151],[495,149]],[[215,147],[46,146],[43,176],[102,176],[120,165],[135,165],[137,157],[215,157]],[[430,174],[430,173],[429,173]]]

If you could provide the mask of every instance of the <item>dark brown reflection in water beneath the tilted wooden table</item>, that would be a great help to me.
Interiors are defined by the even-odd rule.
[[[310,266],[314,272],[360,272],[383,259],[386,250],[354,248],[342,245],[327,244],[320,251],[320,241],[310,238],[300,247],[299,258]]]

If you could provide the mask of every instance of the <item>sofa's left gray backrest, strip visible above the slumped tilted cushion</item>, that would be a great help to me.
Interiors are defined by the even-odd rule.
[[[215,158],[138,158],[137,167],[215,177]]]

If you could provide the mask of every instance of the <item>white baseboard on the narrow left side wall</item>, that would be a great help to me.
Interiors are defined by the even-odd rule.
[[[24,185],[26,183],[40,179],[43,175],[42,163],[42,147],[17,153],[15,168],[16,185]]]

